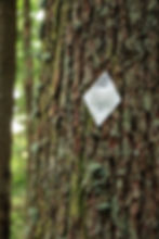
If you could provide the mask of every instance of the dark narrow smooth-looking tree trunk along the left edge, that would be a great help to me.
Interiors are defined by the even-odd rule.
[[[10,234],[10,153],[15,73],[15,2],[0,0],[0,239]]]

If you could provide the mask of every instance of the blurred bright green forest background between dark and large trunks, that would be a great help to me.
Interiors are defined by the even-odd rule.
[[[42,1],[41,1],[42,2]],[[29,9],[27,9],[29,5]],[[30,49],[25,48],[26,11],[31,21]],[[12,122],[12,212],[11,212],[11,239],[25,238],[26,235],[26,193],[27,193],[27,108],[25,78],[29,74],[34,77],[34,87],[39,77],[40,59],[40,28],[44,12],[40,2],[36,0],[17,0],[17,42],[16,42],[16,81],[14,87],[14,115]],[[27,52],[27,53],[26,53]],[[26,68],[25,56],[29,55],[32,61],[30,68]]]

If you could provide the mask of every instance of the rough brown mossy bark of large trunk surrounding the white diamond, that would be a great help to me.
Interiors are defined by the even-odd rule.
[[[157,239],[157,0],[44,2],[28,238]],[[97,128],[82,95],[103,71],[122,103]]]

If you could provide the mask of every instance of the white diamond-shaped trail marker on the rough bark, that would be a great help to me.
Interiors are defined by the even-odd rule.
[[[121,97],[107,72],[104,72],[83,96],[93,120],[101,126],[121,102]]]

